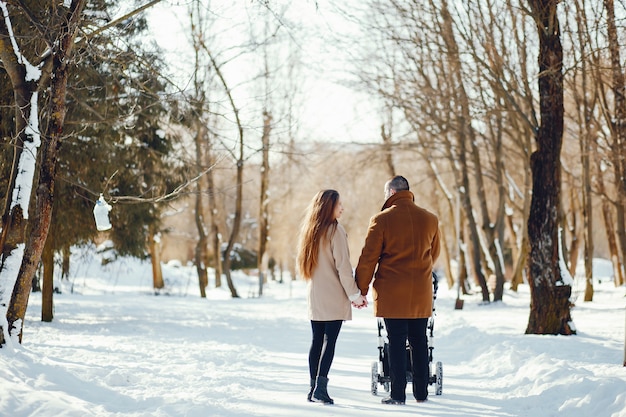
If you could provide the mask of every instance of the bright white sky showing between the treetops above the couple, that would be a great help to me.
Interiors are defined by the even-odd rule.
[[[185,29],[188,25],[188,2],[162,1],[146,11],[149,16],[150,27],[157,44],[165,51],[168,67],[172,79],[179,80],[184,88],[189,84],[187,63],[192,63],[189,45],[189,34]],[[245,26],[238,26],[247,19],[246,9],[251,8],[249,0],[213,0],[211,10],[214,16],[227,28],[236,28],[230,31],[223,27],[215,27],[214,33],[224,49],[216,47],[216,51],[233,48],[246,39],[241,33]],[[303,138],[339,142],[372,142],[379,140],[379,126],[381,118],[371,97],[359,93],[347,86],[346,82],[353,79],[346,65],[345,54],[335,45],[335,38],[344,33],[348,26],[342,19],[335,5],[326,0],[298,0],[296,2],[274,1],[271,6],[278,15],[282,5],[289,3],[289,15],[294,27],[284,26],[280,31],[283,35],[291,36],[297,46],[301,59],[305,62],[300,69],[301,77],[296,81],[301,93],[301,107],[296,109],[300,124],[300,134]],[[317,5],[317,6],[316,6]],[[254,18],[253,20],[260,20]],[[285,20],[285,23],[287,21]],[[272,22],[274,25],[276,21]],[[226,36],[222,36],[228,31]],[[302,32],[300,32],[302,31]],[[301,33],[307,35],[302,36]],[[241,36],[237,42],[237,36]],[[287,46],[284,46],[285,48]],[[214,53],[216,53],[214,51]],[[248,71],[252,69],[240,57],[227,66],[225,77],[231,85],[239,85],[234,90],[239,95],[238,104],[246,107],[250,100],[254,100],[255,92],[243,88],[240,82],[249,79]],[[284,62],[278,63],[285,66]],[[242,104],[243,103],[243,104]]]

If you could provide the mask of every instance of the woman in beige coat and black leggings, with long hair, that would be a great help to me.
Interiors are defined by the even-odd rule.
[[[343,213],[339,193],[324,190],[309,205],[298,247],[298,268],[307,280],[307,301],[313,340],[309,351],[311,390],[307,399],[333,404],[328,395],[328,371],[335,355],[341,324],[352,319],[350,302],[367,301],[352,275],[348,235],[337,222]]]

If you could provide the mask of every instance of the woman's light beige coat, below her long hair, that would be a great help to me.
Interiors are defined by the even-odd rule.
[[[350,296],[355,294],[359,288],[352,275],[348,234],[337,224],[330,244],[327,239],[320,244],[317,267],[307,283],[309,319],[352,320]]]

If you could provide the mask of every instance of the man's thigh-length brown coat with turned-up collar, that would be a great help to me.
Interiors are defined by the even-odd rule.
[[[374,315],[430,317],[432,270],[438,256],[437,216],[415,205],[410,191],[398,191],[389,197],[383,210],[370,219],[355,273],[363,295],[374,279]]]

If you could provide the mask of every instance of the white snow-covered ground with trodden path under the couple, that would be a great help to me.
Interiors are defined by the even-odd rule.
[[[308,403],[310,327],[304,284],[236,274],[242,298],[211,285],[201,299],[195,270],[165,265],[168,294],[153,295],[150,265],[73,261],[55,318],[40,321],[31,295],[22,345],[0,349],[0,416],[557,416],[625,417],[625,289],[596,285],[572,311],[577,336],[524,335],[528,287],[479,305],[439,288],[434,357],[443,395],[405,406],[370,392],[377,359],[372,309],[355,310],[329,375],[335,405]],[[411,395],[407,399],[411,399]]]

